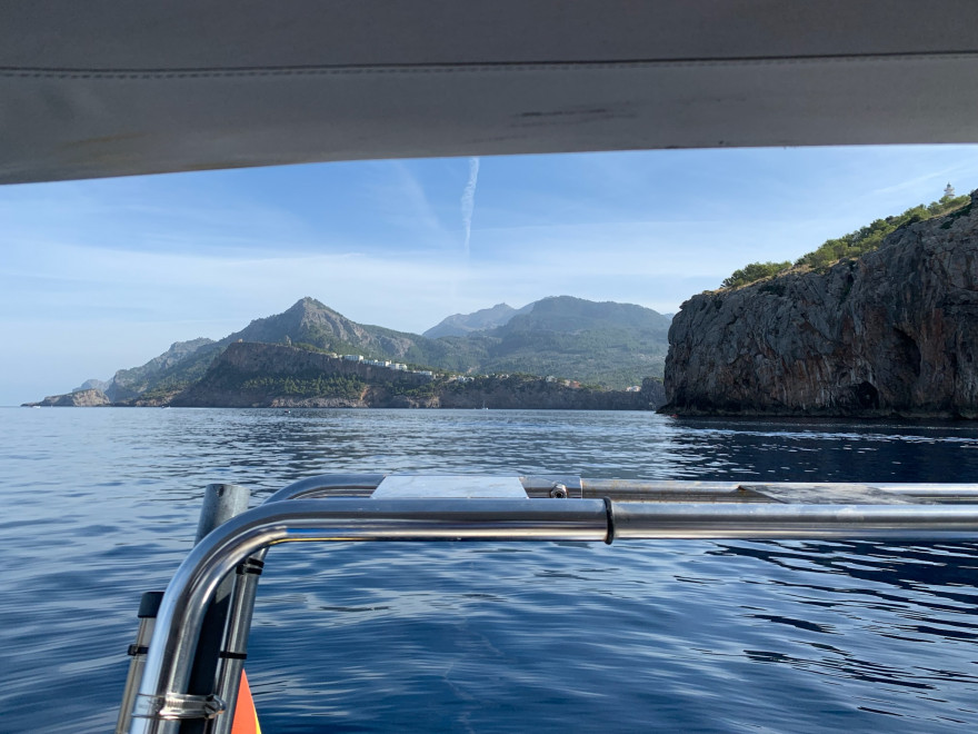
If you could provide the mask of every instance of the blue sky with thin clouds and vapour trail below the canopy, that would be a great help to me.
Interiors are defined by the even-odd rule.
[[[978,146],[323,163],[0,187],[0,405],[303,296],[423,331],[551,295],[675,313],[755,260],[978,188]]]

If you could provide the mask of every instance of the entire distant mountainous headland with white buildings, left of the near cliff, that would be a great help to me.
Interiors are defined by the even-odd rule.
[[[653,410],[670,318],[568,296],[445,319],[435,337],[316,299],[30,406]],[[443,336],[437,336],[442,334]]]

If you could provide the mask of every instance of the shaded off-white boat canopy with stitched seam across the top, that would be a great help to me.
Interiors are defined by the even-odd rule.
[[[972,0],[0,2],[0,182],[978,141]]]

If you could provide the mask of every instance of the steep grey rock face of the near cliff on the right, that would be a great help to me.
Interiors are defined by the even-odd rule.
[[[978,192],[859,260],[695,296],[663,410],[978,417]]]

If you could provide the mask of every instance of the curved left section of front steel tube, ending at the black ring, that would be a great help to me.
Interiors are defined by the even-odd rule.
[[[174,731],[168,698],[187,690],[207,603],[249,555],[290,542],[605,540],[600,499],[295,499],[250,509],[198,543],[167,587],[147,654],[132,734]]]

